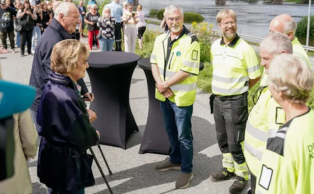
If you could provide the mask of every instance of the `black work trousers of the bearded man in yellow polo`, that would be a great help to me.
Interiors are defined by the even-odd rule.
[[[249,115],[247,95],[234,96],[231,99],[216,96],[213,99],[213,114],[220,151],[225,156],[231,154],[237,165],[245,163],[241,144],[244,143],[246,121]],[[226,160],[230,161],[228,157]],[[223,166],[233,168],[232,163],[232,161],[226,162]],[[237,171],[236,164],[235,171]]]

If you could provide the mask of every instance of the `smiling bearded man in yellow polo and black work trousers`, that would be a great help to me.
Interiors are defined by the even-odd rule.
[[[221,10],[216,20],[222,38],[211,45],[212,95],[216,134],[223,155],[223,168],[211,173],[213,182],[236,178],[231,194],[239,194],[248,180],[248,167],[243,155],[244,133],[248,118],[248,90],[261,76],[254,49],[236,34],[236,15],[230,9]]]

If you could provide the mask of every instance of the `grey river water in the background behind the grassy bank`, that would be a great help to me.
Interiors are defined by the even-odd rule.
[[[279,14],[289,14],[295,21],[308,15],[309,6],[284,2],[282,5],[273,5],[263,1],[227,0],[226,5],[216,5],[215,0],[139,0],[146,15],[150,9],[162,9],[170,4],[178,4],[183,12],[193,11],[201,14],[204,22],[213,23],[214,29],[219,29],[216,15],[221,9],[232,9],[237,15],[237,30],[241,34],[263,37],[269,33],[270,21]],[[314,14],[314,5],[311,6]]]

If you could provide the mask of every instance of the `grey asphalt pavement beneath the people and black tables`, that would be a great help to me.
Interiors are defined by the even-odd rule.
[[[81,41],[87,42],[87,38],[82,38]],[[0,55],[3,79],[28,84],[33,56],[20,57],[20,49],[16,49],[16,51],[18,51],[16,54],[10,52]],[[93,52],[98,52],[98,50],[93,49]],[[87,74],[84,80],[89,90],[92,91],[92,85]],[[95,95],[95,100],[101,100],[97,99],[97,94]],[[108,175],[99,149],[93,147],[114,194],[228,194],[228,189],[232,185],[233,180],[214,183],[209,178],[211,172],[221,169],[222,155],[216,140],[214,119],[210,114],[208,93],[198,89],[193,107],[194,178],[186,189],[175,188],[175,181],[180,171],[159,172],[155,169],[159,162],[168,160],[168,156],[138,154],[148,115],[146,77],[143,70],[139,67],[135,68],[132,76],[130,106],[139,132],[134,132],[131,135],[127,143],[127,149],[123,150],[122,148],[101,145],[105,158],[113,172],[112,175]],[[37,156],[28,161],[28,167],[32,180],[33,194],[45,194],[47,188],[40,183],[37,177]],[[93,187],[86,188],[85,193],[108,194],[109,191],[105,181],[95,163],[92,166],[92,170],[96,184]],[[247,185],[249,184],[250,182]],[[248,189],[249,187],[247,186],[242,194],[246,194]]]

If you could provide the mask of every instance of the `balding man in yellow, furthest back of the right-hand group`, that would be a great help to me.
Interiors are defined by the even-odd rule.
[[[281,14],[276,16],[269,24],[269,31],[272,32],[281,32],[286,34],[288,38],[291,40],[293,47],[293,55],[296,55],[304,60],[306,64],[310,66],[312,70],[314,68],[311,65],[310,58],[298,38],[295,37],[295,31],[297,28],[297,23],[291,16],[288,14]],[[268,75],[263,72],[262,80],[260,85],[268,85]]]

